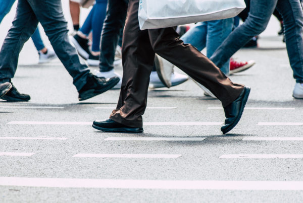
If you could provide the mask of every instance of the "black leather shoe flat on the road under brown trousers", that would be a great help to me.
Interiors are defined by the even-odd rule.
[[[143,127],[129,127],[112,119],[95,120],[92,127],[105,132],[143,132]]]

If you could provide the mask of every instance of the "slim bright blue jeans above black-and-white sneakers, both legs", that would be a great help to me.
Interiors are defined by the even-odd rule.
[[[96,0],[80,31],[88,35],[92,30],[92,51],[100,51],[100,38],[106,16],[107,0]]]

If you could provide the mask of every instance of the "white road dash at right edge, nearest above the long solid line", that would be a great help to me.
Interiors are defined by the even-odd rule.
[[[303,154],[227,154],[222,155],[219,157],[223,158],[264,158],[264,159],[271,159],[271,158],[303,158]]]

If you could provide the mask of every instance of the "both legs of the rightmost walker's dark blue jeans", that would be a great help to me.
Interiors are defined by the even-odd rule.
[[[224,40],[210,59],[218,67],[222,67],[252,37],[265,30],[275,8],[283,18],[286,48],[293,78],[297,83],[303,83],[303,12],[299,0],[251,0],[246,21]]]

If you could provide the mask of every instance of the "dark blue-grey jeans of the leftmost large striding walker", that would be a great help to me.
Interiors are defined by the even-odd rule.
[[[76,49],[68,38],[61,0],[19,0],[13,26],[0,52],[0,83],[9,82],[17,69],[19,53],[24,43],[37,29],[38,22],[79,91],[85,84],[89,69],[80,63]]]

